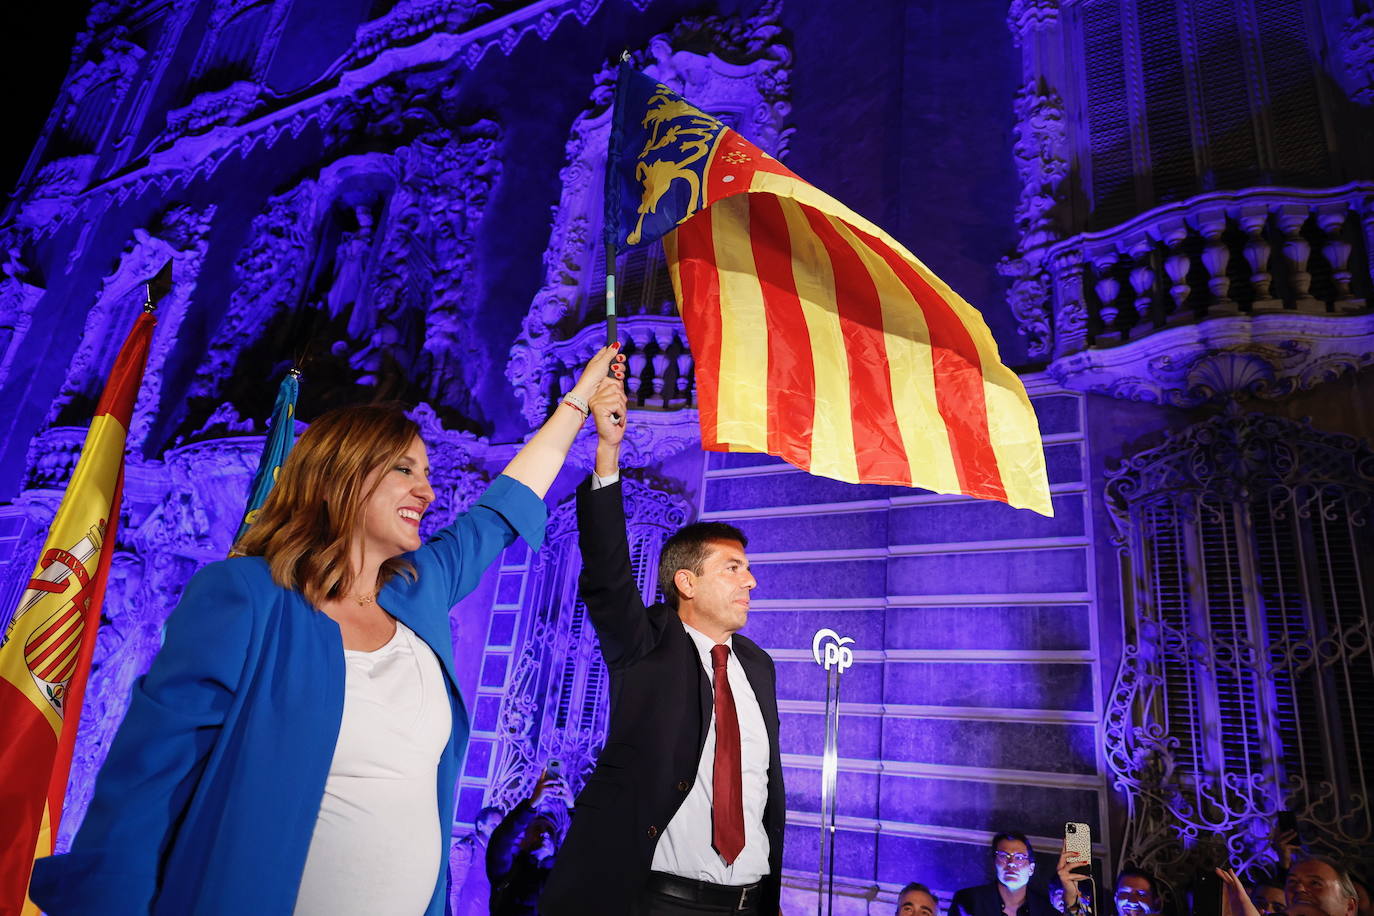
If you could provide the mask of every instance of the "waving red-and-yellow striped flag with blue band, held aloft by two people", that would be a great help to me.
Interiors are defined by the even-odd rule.
[[[625,63],[614,106],[607,225],[617,250],[662,239],[703,448],[1051,515],[1030,401],[971,305]]]

